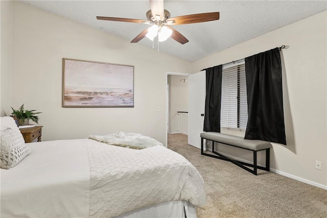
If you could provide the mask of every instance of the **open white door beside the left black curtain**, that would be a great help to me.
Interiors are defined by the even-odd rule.
[[[201,149],[205,105],[205,71],[189,76],[189,144]],[[202,115],[201,115],[202,114]]]

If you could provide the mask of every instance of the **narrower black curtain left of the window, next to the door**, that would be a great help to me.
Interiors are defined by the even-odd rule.
[[[203,131],[220,132],[221,78],[223,65],[207,68]]]

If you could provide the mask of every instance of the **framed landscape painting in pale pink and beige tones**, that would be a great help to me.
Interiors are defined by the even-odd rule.
[[[134,66],[63,58],[63,107],[134,107]]]

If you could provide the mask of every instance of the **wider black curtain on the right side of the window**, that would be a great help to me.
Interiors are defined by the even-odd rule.
[[[244,138],[286,145],[278,48],[245,58],[245,74],[248,122]]]

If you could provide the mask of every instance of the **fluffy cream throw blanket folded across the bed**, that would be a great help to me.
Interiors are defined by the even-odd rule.
[[[162,144],[154,138],[137,133],[116,132],[108,135],[90,135],[88,138],[112,144],[113,146],[128,147],[131,149],[145,149],[152,146],[162,146]]]

